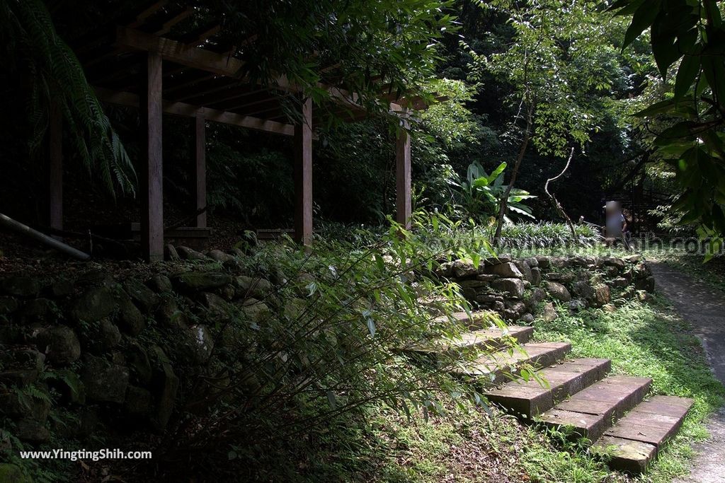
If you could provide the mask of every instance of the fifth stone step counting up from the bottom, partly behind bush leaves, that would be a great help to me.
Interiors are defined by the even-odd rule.
[[[518,325],[504,328],[489,327],[488,329],[463,332],[460,338],[431,340],[426,344],[415,345],[410,350],[431,356],[445,354],[455,357],[474,348],[489,351],[499,350],[507,345],[506,342],[510,340],[510,337],[513,337],[520,344],[526,343],[529,342],[533,333],[534,327],[521,327]]]

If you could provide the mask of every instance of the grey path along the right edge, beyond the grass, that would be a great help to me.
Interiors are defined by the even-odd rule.
[[[705,348],[716,377],[725,384],[725,295],[664,264],[650,264],[657,287],[687,319]],[[725,408],[708,421],[710,439],[695,447],[692,473],[679,483],[725,483]]]

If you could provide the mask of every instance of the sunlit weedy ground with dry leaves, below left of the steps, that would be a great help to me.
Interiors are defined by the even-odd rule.
[[[381,411],[373,433],[384,463],[366,478],[375,482],[626,482],[584,451],[560,447],[549,434],[515,417],[471,405],[407,420]],[[382,448],[386,448],[383,450]]]

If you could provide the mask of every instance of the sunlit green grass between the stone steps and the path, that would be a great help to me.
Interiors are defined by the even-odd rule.
[[[705,419],[725,397],[689,324],[661,298],[650,305],[630,301],[613,312],[569,314],[563,306],[558,312],[552,322],[537,322],[537,340],[566,340],[572,343],[573,357],[610,358],[613,373],[651,377],[652,394],[695,399],[682,430],[639,480],[670,482],[687,474],[691,445],[708,437]]]

